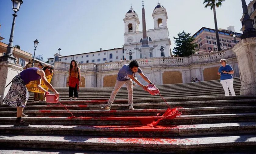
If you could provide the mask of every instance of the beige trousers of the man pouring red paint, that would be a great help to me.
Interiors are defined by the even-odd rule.
[[[126,85],[127,90],[128,90],[128,104],[129,105],[133,104],[133,82],[132,82],[132,79],[125,80],[125,81],[116,80],[114,90],[112,91],[110,98],[108,100],[108,106],[111,107],[111,105],[116,97],[116,94],[118,93],[119,89],[123,86],[123,84]]]

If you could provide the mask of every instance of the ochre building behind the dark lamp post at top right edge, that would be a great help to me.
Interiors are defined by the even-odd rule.
[[[250,15],[250,18],[252,19],[253,28],[256,28],[256,0],[250,1],[250,3],[247,5],[248,14]],[[242,18],[240,19],[242,23],[241,31],[244,32],[244,14]]]

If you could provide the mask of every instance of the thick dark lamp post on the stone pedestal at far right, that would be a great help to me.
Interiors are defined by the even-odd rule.
[[[250,18],[250,15],[248,14],[248,8],[246,5],[245,0],[242,1],[242,7],[243,7],[243,13],[244,13],[244,32],[241,36],[241,39],[246,39],[250,37],[256,37],[256,30],[253,28],[252,19]]]

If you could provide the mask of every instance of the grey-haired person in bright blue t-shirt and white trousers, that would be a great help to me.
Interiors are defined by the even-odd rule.
[[[218,75],[220,75],[220,83],[225,91],[225,96],[229,96],[229,90],[232,96],[236,96],[234,87],[233,87],[233,77],[231,74],[234,74],[232,67],[227,63],[226,59],[220,60],[221,67],[219,67]]]

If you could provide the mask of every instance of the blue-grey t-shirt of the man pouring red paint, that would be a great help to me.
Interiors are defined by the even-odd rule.
[[[138,68],[138,73],[142,73],[142,70],[140,67]],[[119,81],[125,81],[129,80],[130,77],[128,75],[134,75],[133,71],[130,69],[129,64],[125,64],[118,72],[117,74],[117,80]]]

